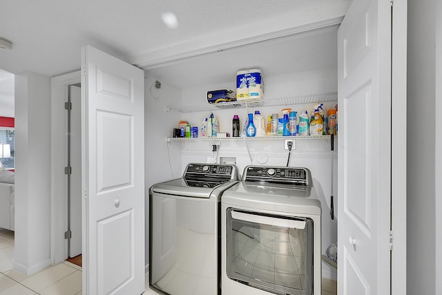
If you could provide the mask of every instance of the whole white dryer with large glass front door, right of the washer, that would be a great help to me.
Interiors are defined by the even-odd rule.
[[[247,166],[221,198],[224,295],[320,295],[321,206],[306,168]]]

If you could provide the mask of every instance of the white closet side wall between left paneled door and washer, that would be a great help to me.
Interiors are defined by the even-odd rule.
[[[144,130],[145,137],[145,171],[146,177],[146,267],[148,267],[148,189],[157,182],[164,182],[182,175],[180,150],[166,142],[177,127],[179,114],[176,111],[166,112],[166,106],[180,106],[180,89],[162,82],[160,90],[155,88],[156,78],[146,73],[144,84]],[[148,269],[146,269],[147,271]]]

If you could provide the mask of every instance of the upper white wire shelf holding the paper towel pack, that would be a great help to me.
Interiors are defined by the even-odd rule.
[[[182,113],[207,111],[213,109],[248,108],[258,106],[291,106],[294,104],[314,104],[317,102],[334,102],[338,100],[337,92],[292,95],[273,99],[245,99],[236,102],[220,102],[219,104],[206,104],[204,106],[169,107]]]

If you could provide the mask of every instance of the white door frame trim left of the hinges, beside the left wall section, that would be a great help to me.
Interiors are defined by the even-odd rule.
[[[64,102],[68,100],[68,86],[81,82],[80,71],[59,75],[51,79],[50,102],[50,259],[56,265],[66,260],[67,240],[64,239],[66,227],[67,180],[64,175],[66,162]]]

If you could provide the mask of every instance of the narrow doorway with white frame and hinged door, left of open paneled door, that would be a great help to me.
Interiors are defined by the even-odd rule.
[[[78,254],[81,253],[80,80],[79,71],[51,79],[51,257],[53,265],[63,263],[69,256],[75,257],[74,251],[77,251]],[[70,111],[66,109],[69,102],[72,104]],[[71,120],[68,120],[69,115]],[[70,132],[68,132],[69,121]],[[68,144],[68,140],[73,144]],[[70,149],[70,157],[68,157],[68,149]],[[69,170],[71,174],[66,175],[65,173],[69,173]],[[70,188],[68,188],[68,184]],[[70,200],[74,200],[74,202],[77,200],[77,204],[73,205],[68,202],[68,192]],[[74,196],[78,196],[79,199]],[[70,218],[68,218],[68,207],[70,207]],[[70,220],[69,227],[68,220]],[[69,236],[71,239],[68,251]],[[75,250],[75,247],[79,249],[79,252]]]

